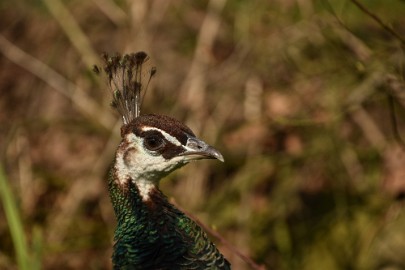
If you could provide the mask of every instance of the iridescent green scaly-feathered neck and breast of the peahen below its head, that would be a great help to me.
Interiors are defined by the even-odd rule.
[[[201,228],[170,204],[157,184],[124,181],[117,169],[113,166],[109,176],[117,217],[114,269],[230,269]]]

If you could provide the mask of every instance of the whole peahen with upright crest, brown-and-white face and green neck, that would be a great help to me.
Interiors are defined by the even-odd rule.
[[[123,119],[122,141],[109,172],[117,218],[114,269],[230,269],[206,233],[159,189],[159,181],[172,171],[198,159],[224,161],[221,153],[171,117],[140,115],[141,92],[156,71],[142,70],[146,53],[103,59],[104,67],[95,71],[108,76],[111,105]]]

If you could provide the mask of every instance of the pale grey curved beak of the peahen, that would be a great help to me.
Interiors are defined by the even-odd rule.
[[[186,151],[181,153],[180,156],[188,156],[190,160],[218,159],[224,162],[224,157],[217,149],[200,139],[188,138],[185,149]]]

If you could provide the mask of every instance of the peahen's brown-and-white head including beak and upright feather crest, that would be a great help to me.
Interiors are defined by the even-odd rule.
[[[115,179],[121,186],[128,181],[144,193],[155,188],[159,180],[193,160],[214,158],[224,161],[221,153],[198,139],[181,122],[162,115],[141,115],[142,92],[146,93],[156,68],[147,68],[145,52],[103,57],[104,70],[112,93],[111,105],[123,119],[122,142],[115,159]],[[144,83],[144,78],[148,78]]]

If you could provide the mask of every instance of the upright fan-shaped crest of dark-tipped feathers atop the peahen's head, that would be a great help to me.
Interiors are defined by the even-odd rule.
[[[130,123],[140,115],[143,96],[156,73],[155,67],[144,67],[148,60],[149,57],[145,52],[122,56],[115,54],[111,57],[103,55],[103,70],[107,74],[112,93],[111,106],[121,114],[124,124]],[[94,71],[99,74],[101,68],[95,66]],[[145,79],[146,84],[143,82]]]

